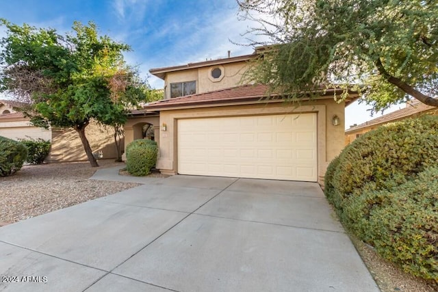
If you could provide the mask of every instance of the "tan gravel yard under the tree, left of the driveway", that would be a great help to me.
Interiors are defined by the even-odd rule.
[[[136,187],[137,183],[89,180],[100,168],[125,163],[113,159],[24,166],[13,176],[0,177],[0,226]]]

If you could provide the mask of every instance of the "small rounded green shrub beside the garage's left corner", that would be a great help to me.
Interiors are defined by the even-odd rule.
[[[133,176],[145,176],[157,163],[157,142],[152,140],[134,140],[126,147],[126,168]]]

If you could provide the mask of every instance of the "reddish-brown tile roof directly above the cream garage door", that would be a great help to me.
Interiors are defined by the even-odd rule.
[[[329,90],[327,93],[333,91],[335,90]],[[194,105],[259,101],[261,98],[266,98],[267,93],[268,85],[241,85],[235,88],[227,88],[213,92],[163,99],[162,101],[156,101],[144,106],[144,109],[158,110],[171,107],[190,107]],[[271,94],[270,98],[279,99],[279,95],[280,94]]]

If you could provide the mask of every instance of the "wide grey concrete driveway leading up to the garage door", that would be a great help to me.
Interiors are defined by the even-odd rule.
[[[316,183],[143,182],[1,227],[0,291],[378,291]]]

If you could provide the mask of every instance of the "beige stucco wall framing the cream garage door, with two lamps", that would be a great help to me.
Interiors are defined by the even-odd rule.
[[[295,105],[285,103],[259,103],[256,105],[229,105],[161,111],[159,124],[166,124],[167,131],[159,131],[159,158],[157,168],[165,174],[176,174],[177,170],[177,120],[182,118],[208,118],[227,116],[252,116],[263,114],[310,113],[318,115],[318,181],[322,183],[326,167],[344,147],[344,103],[324,99]],[[332,125],[334,115],[341,124]]]

